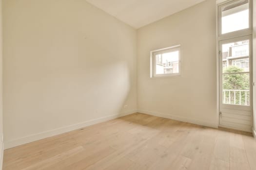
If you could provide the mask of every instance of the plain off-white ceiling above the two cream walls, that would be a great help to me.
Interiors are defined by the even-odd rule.
[[[86,0],[134,28],[191,7],[204,0]]]

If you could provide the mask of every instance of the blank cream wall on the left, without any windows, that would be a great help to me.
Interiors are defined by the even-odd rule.
[[[5,148],[136,112],[135,29],[85,0],[3,0],[3,19]]]

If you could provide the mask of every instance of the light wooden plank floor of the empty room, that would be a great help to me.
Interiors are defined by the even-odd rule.
[[[3,170],[256,170],[256,140],[136,113],[5,150]]]

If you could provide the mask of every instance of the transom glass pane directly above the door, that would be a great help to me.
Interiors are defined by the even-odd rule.
[[[221,8],[222,34],[249,28],[249,2],[240,0]]]

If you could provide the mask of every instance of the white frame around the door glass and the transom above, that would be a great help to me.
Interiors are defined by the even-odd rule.
[[[231,33],[226,33],[226,34],[221,34],[221,7],[226,6],[228,4],[234,3],[236,1],[239,0],[217,0],[217,8],[216,8],[216,15],[217,15],[217,25],[216,25],[216,30],[217,30],[217,34],[216,34],[216,45],[217,45],[217,121],[218,121],[218,126],[219,127],[228,127],[228,126],[223,126],[220,123],[220,110],[222,111],[226,111],[225,109],[223,110],[223,108],[221,107],[221,102],[222,102],[222,93],[221,93],[221,87],[220,85],[222,85],[222,81],[219,79],[220,78],[220,74],[222,74],[222,64],[220,64],[220,59],[222,58],[221,56],[221,47],[220,44],[225,42],[228,43],[229,41],[239,41],[240,39],[249,39],[250,40],[250,49],[249,49],[249,53],[250,53],[250,106],[246,106],[247,109],[244,109],[245,106],[240,106],[240,105],[235,105],[236,108],[231,108],[231,109],[235,109],[234,112],[237,112],[237,114],[243,114],[243,115],[248,115],[248,116],[252,116],[252,103],[253,103],[253,89],[252,89],[252,34],[253,34],[253,28],[252,28],[252,6],[253,6],[253,0],[249,0],[249,28],[247,29],[243,29],[243,30],[238,30],[238,31],[234,31]],[[222,63],[222,62],[221,62]],[[228,106],[228,105],[227,105]],[[240,110],[239,108],[243,107],[242,110]],[[228,127],[231,129],[234,129],[233,127]],[[235,128],[236,129],[236,128]],[[238,128],[238,130],[244,130],[243,128]],[[247,129],[244,131],[248,131]],[[249,131],[248,131],[249,132]]]

